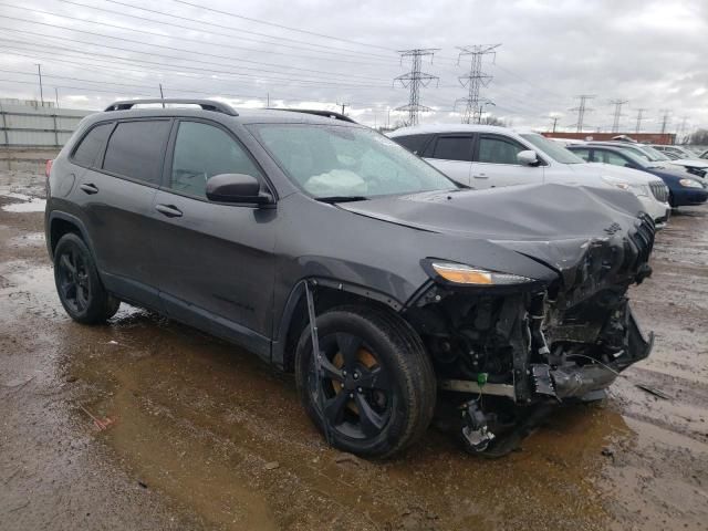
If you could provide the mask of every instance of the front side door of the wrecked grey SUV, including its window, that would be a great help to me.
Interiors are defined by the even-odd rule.
[[[278,210],[206,197],[219,174],[252,175],[268,188],[263,171],[217,123],[180,119],[169,144],[152,211],[163,308],[269,358]]]

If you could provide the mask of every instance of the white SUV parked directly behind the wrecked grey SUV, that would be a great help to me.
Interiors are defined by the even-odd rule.
[[[658,227],[668,219],[668,189],[641,171],[589,165],[534,132],[488,125],[439,124],[388,134],[452,180],[476,189],[533,183],[615,186],[634,194]]]

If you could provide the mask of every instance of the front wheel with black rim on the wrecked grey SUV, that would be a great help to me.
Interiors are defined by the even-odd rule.
[[[384,310],[352,305],[320,315],[317,329],[321,387],[309,325],[298,343],[295,379],[303,407],[332,445],[388,457],[418,439],[433,418],[436,382],[410,326]]]

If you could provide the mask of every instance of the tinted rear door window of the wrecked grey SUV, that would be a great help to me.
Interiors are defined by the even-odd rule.
[[[169,119],[119,122],[114,129],[103,169],[150,185],[159,185]]]

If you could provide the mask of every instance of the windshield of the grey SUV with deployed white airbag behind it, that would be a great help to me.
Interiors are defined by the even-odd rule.
[[[257,124],[249,129],[290,179],[315,198],[369,198],[458,186],[378,133],[317,124]]]

